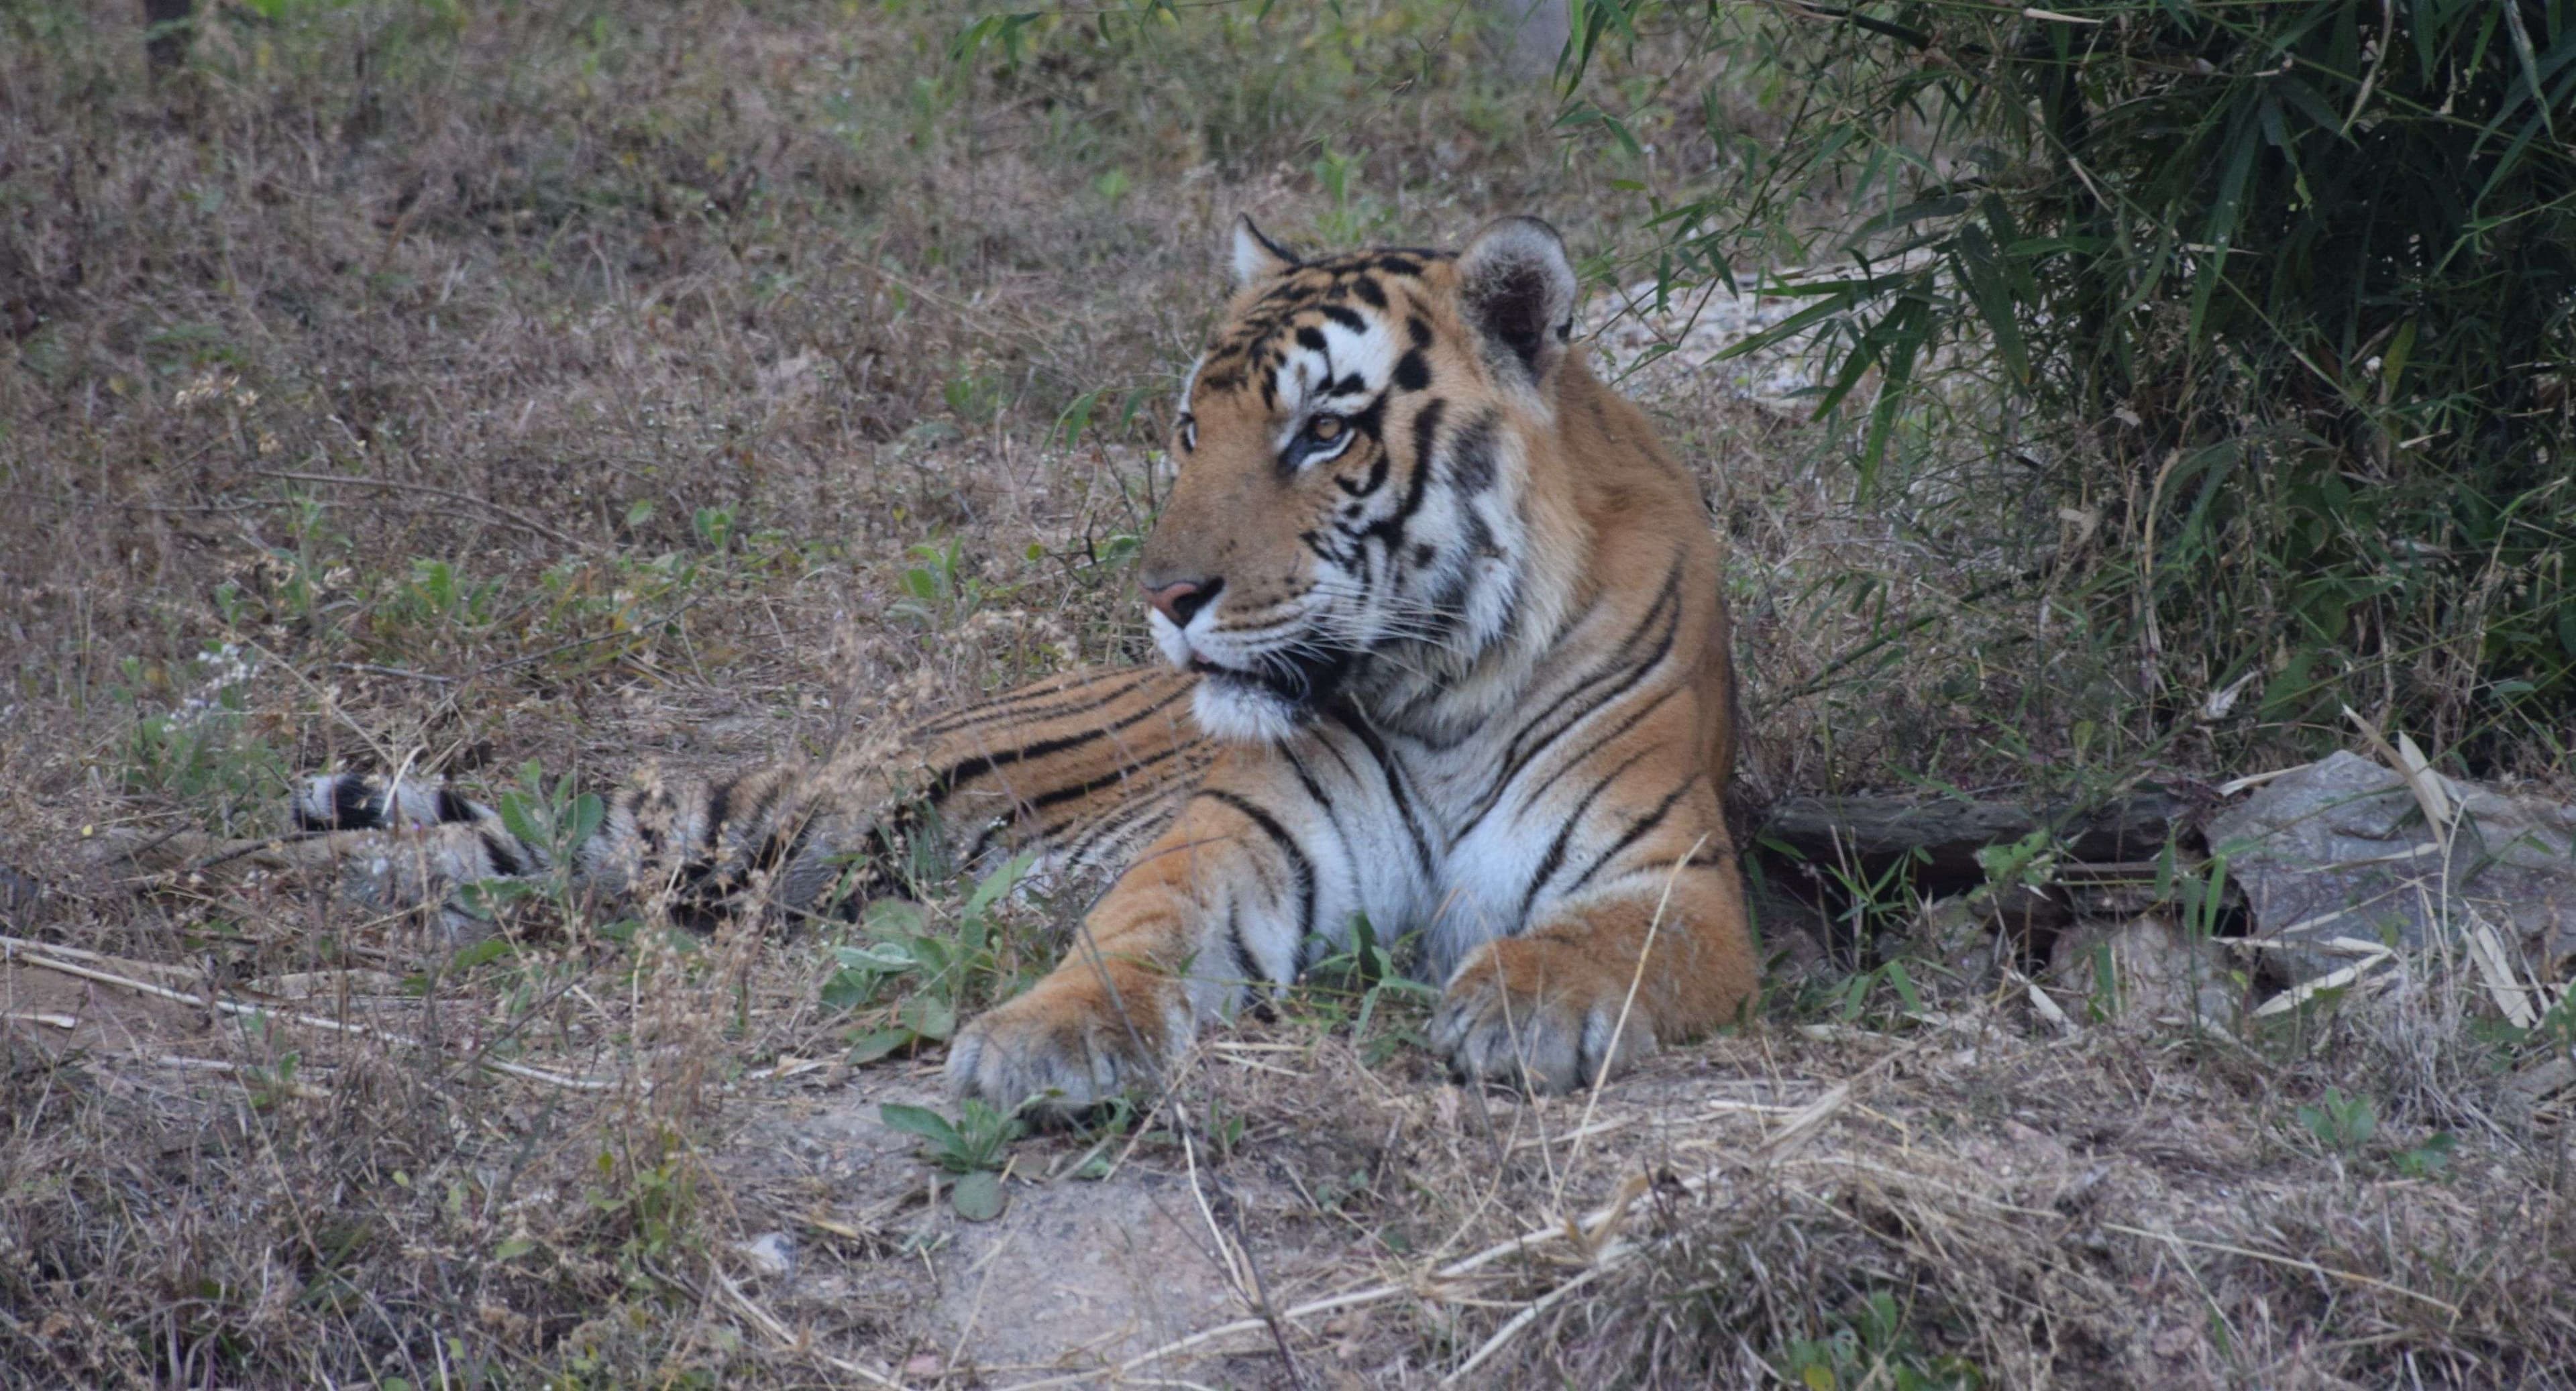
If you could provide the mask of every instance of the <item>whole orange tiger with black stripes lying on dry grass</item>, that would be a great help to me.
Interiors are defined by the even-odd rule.
[[[384,902],[562,871],[827,914],[925,853],[1036,853],[1108,889],[945,1074],[1041,1113],[1170,1077],[1363,920],[1414,940],[1461,1079],[1566,1092],[1739,1020],[1759,969],[1723,814],[1723,556],[1698,482],[1574,343],[1558,232],[1301,260],[1247,216],[1229,260],[1136,567],[1162,667],[1074,670],[817,768],[647,770],[569,850],[435,778],[337,773],[294,796],[294,837],[232,855],[337,863]]]

